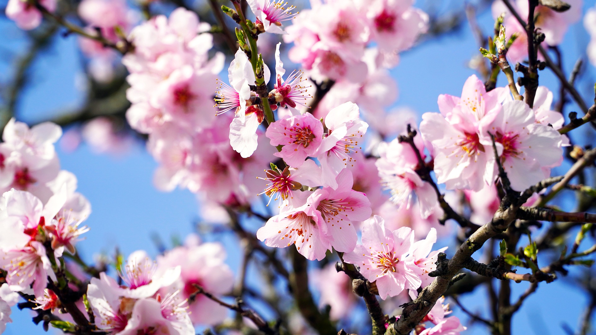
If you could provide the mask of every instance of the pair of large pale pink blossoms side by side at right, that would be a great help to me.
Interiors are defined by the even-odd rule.
[[[544,124],[562,123],[562,116],[557,119],[550,111],[552,96],[542,88],[539,97],[532,110],[512,100],[506,88],[486,92],[476,76],[465,82],[461,98],[440,95],[440,114],[425,113],[420,124],[422,137],[432,144],[437,181],[448,190],[492,185],[497,165],[491,135],[514,190],[550,175],[550,168],[561,163],[566,138]]]

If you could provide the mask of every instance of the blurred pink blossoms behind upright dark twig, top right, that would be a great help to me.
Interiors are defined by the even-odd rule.
[[[566,2],[571,5],[571,8],[563,13],[558,13],[543,5],[536,6],[534,11],[536,17],[535,27],[544,33],[545,39],[542,42],[544,46],[559,45],[563,41],[570,24],[576,23],[582,17],[582,0],[569,0]],[[524,21],[527,21],[529,14],[528,2],[526,0],[517,0],[513,5],[517,13]],[[516,40],[507,51],[507,57],[513,64],[521,63],[527,58],[526,29],[511,14],[504,2],[496,0],[492,3],[492,15],[496,18],[502,14],[505,14],[503,26],[506,28],[507,39],[514,33],[517,34]],[[540,53],[538,53],[538,59],[543,59]]]

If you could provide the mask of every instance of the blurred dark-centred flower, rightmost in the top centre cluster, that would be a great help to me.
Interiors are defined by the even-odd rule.
[[[413,3],[412,0],[359,1],[366,11],[372,38],[382,52],[396,54],[409,49],[419,35],[426,33],[429,15],[412,7]]]

